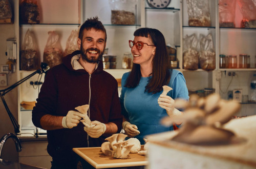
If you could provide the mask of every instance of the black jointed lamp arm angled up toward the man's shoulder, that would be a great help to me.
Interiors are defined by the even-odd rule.
[[[4,95],[8,92],[10,92],[11,90],[13,90],[14,88],[16,88],[17,86],[19,86],[21,83],[23,83],[24,81],[28,80],[30,77],[34,76],[35,74],[42,74],[42,73],[46,73],[50,68],[47,66],[47,64],[41,62],[41,69],[36,70],[35,72],[31,73],[30,75],[26,76],[25,78],[17,81],[16,83],[14,83],[12,86],[0,90],[0,97],[4,103],[5,109],[11,119],[12,125],[14,126],[14,132],[17,135],[18,133],[20,133],[19,130],[19,124],[18,121],[15,119],[15,117],[13,116],[13,114],[11,113],[10,109],[8,108],[8,105],[5,101]]]

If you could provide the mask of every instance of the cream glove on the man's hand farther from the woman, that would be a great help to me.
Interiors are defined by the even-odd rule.
[[[63,128],[72,129],[74,126],[77,126],[77,124],[80,122],[79,120],[84,117],[84,114],[71,110],[68,112],[67,116],[62,118],[62,126]]]

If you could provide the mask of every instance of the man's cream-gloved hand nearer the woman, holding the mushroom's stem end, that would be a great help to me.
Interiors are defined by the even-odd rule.
[[[92,124],[95,124],[93,128],[83,127],[83,130],[92,138],[99,138],[106,131],[106,125],[99,121],[92,121]]]

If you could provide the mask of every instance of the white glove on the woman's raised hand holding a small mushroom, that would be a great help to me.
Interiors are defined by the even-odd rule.
[[[174,107],[174,99],[167,95],[160,95],[158,104],[161,108],[165,109],[167,114],[171,117],[174,115],[181,115],[182,113]]]

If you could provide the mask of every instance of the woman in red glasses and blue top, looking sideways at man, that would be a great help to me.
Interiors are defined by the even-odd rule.
[[[133,54],[131,72],[122,76],[121,107],[122,128],[129,137],[144,144],[145,135],[174,130],[160,123],[165,116],[178,116],[174,108],[177,98],[188,100],[188,90],[183,74],[170,68],[163,34],[152,28],[140,28],[129,40]],[[173,90],[161,95],[163,86]],[[177,125],[182,121],[177,122]]]

